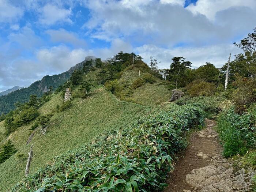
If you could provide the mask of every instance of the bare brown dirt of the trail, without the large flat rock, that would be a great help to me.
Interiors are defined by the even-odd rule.
[[[222,147],[218,141],[218,134],[213,129],[215,125],[214,120],[206,119],[206,129],[191,136],[184,157],[179,159],[174,172],[167,179],[169,186],[165,192],[182,192],[184,189],[193,191],[193,188],[186,183],[186,176],[193,169],[211,165],[211,157],[221,158]]]

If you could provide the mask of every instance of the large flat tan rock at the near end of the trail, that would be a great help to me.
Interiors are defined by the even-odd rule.
[[[213,165],[193,169],[186,176],[186,182],[199,192],[245,192],[251,190],[254,174],[253,171],[245,173],[244,169],[235,172],[227,159],[221,159],[214,160]]]

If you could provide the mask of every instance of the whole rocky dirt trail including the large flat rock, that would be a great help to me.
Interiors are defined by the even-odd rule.
[[[165,192],[245,192],[252,191],[251,179],[255,173],[234,169],[222,157],[218,134],[213,120],[206,120],[207,127],[192,135],[190,145],[179,159],[167,180]]]

